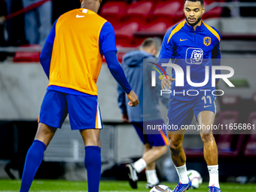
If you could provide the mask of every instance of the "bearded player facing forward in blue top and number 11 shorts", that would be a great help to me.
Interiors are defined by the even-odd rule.
[[[221,65],[221,35],[214,27],[203,23],[204,12],[203,0],[185,0],[186,20],[166,32],[158,62],[161,66],[172,59],[172,63],[176,65],[176,69],[172,68],[172,78],[166,75],[164,66],[162,75],[159,75],[163,89],[169,87],[172,91],[167,120],[169,126],[175,126],[175,129],[169,131],[169,148],[180,179],[173,190],[175,192],[185,191],[191,186],[191,181],[187,177],[186,155],[182,147],[185,132],[182,128],[191,123],[193,116],[202,127],[211,127],[215,120],[212,66]],[[181,82],[182,71],[188,76],[184,76]],[[220,71],[217,70],[215,73],[220,74]],[[209,191],[219,192],[221,189],[218,182],[218,148],[212,129],[200,130],[200,136],[209,169]]]

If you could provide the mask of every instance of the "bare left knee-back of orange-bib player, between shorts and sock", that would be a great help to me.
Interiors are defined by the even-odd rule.
[[[55,127],[47,126],[44,123],[38,123],[38,131],[35,135],[35,140],[39,140],[48,146],[51,139],[53,139],[54,134],[56,133]]]

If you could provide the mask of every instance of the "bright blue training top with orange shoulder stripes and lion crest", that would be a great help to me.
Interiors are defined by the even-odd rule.
[[[166,32],[157,64],[162,66],[162,63],[168,63],[171,59],[172,63],[183,69],[184,86],[177,87],[175,81],[172,82],[171,95],[175,99],[183,101],[194,99],[195,96],[189,95],[194,95],[196,92],[193,93],[192,91],[187,95],[187,90],[215,90],[215,87],[212,87],[212,66],[221,65],[220,42],[221,35],[218,30],[206,23],[197,26],[195,31],[184,20]],[[206,81],[206,85],[203,87],[194,87],[188,84],[186,78],[187,66],[190,66],[190,81],[193,83],[202,83],[205,81],[206,66],[209,66],[209,81]],[[166,67],[162,66],[162,68],[166,71]],[[159,71],[161,75],[164,75],[161,69]],[[172,78],[175,78],[177,81],[177,78],[180,79],[182,75],[176,73],[172,68]],[[217,70],[215,73],[219,75],[221,71]],[[158,72],[157,76],[160,76]]]

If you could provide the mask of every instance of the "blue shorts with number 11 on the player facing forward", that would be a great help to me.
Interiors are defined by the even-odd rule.
[[[169,110],[167,114],[167,125],[169,131],[181,130],[186,125],[190,125],[195,116],[202,111],[212,111],[216,114],[216,96],[201,93],[191,101],[181,101],[173,96],[169,100]]]

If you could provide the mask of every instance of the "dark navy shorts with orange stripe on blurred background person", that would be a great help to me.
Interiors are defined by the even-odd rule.
[[[144,144],[148,143],[151,146],[163,146],[169,145],[169,139],[167,137],[166,130],[148,130],[147,125],[163,125],[163,120],[151,120],[147,122],[132,122],[139,135],[139,138]]]

